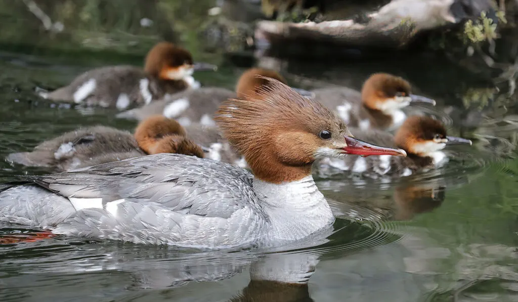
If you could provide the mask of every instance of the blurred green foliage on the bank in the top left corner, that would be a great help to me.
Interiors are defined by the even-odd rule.
[[[168,40],[188,48],[196,57],[201,49],[198,30],[214,3],[214,0],[0,0],[0,17],[4,24],[9,24],[0,31],[0,48],[81,49],[142,56],[157,41]],[[46,26],[48,21],[52,26]]]

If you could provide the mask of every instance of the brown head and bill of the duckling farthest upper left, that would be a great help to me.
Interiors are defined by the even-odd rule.
[[[169,42],[156,44],[146,56],[146,73],[162,80],[184,80],[196,70],[215,70],[214,65],[194,63],[191,53]]]

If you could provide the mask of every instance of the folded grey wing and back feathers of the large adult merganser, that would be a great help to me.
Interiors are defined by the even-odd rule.
[[[148,155],[24,178],[64,197],[102,198],[103,203],[124,198],[206,217],[228,218],[246,206],[260,208],[248,171],[181,154]]]

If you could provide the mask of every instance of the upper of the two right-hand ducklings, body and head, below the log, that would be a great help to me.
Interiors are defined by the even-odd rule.
[[[429,103],[435,100],[410,93],[410,84],[403,78],[389,74],[373,74],[363,84],[362,92],[340,87],[312,91],[315,100],[335,109],[351,127],[363,130],[396,130],[405,121],[401,108],[411,103]]]

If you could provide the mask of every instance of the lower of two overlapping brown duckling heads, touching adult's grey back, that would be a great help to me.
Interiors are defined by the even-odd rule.
[[[176,134],[166,135],[157,140],[148,153],[176,153],[197,156],[200,157],[200,159],[204,157],[202,147],[198,146],[189,138]]]

